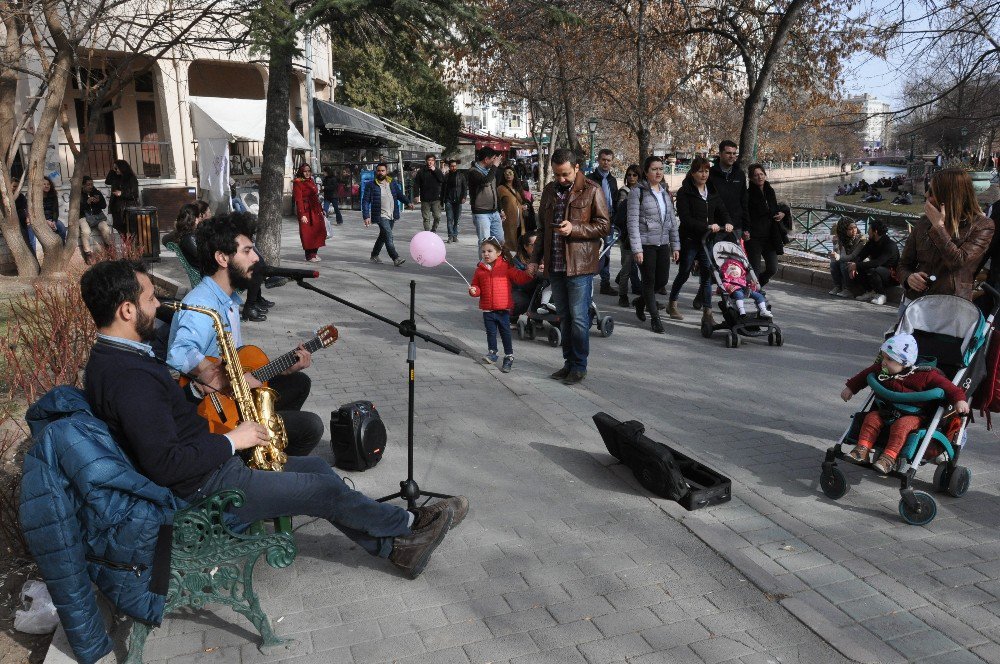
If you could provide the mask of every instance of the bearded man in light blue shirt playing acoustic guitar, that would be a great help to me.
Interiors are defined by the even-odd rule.
[[[198,262],[205,278],[184,298],[184,304],[218,311],[236,347],[243,345],[240,329],[243,300],[236,291],[248,288],[254,270],[261,269],[260,256],[254,251],[255,230],[254,217],[240,212],[213,217],[199,224],[196,231]],[[174,315],[167,348],[167,364],[193,374],[216,390],[227,386],[225,370],[213,361],[219,356],[219,345],[208,316],[194,311],[180,311]],[[312,364],[312,354],[305,346],[299,346],[293,353],[294,356],[285,362],[290,366],[270,378],[268,385],[278,393],[276,409],[288,433],[285,453],[306,456],[323,436],[323,420],[315,413],[302,410],[312,385],[302,370]],[[246,378],[251,388],[260,387],[261,381],[253,373],[248,371]],[[220,401],[231,404],[228,399],[209,395],[199,408],[199,413],[209,420],[213,433],[225,433],[237,424],[234,414],[227,416],[219,412]]]

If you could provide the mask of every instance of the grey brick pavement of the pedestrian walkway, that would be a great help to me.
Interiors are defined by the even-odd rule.
[[[776,285],[786,346],[726,350],[698,335],[694,315],[654,337],[612,308],[614,335],[592,340],[590,375],[567,388],[547,379],[561,361],[543,341],[515,341],[509,375],[475,363],[483,332],[464,283],[446,267],[369,264],[374,236],[357,217],[347,215],[322,253],[318,285],[403,318],[414,278],[420,325],[468,349],[456,357],[419,346],[416,471],[425,489],[468,495],[472,512],[416,581],[329,524],[300,519],[295,564],[257,573],[291,649],[262,656],[246,621],[211,609],[171,616],[150,639],[150,659],[1000,661],[1000,537],[984,528],[996,523],[998,465],[980,444],[992,434],[972,435],[970,493],[942,498],[924,528],[902,524],[897,490],[871,476],[847,470],[858,484],[839,503],[818,488],[822,450],[850,412],[836,401],[839,385],[870,360],[891,310]],[[405,213],[398,228],[406,256],[418,215]],[[464,232],[449,258],[471,274],[474,239]],[[298,259],[293,226],[284,240],[285,257]],[[169,259],[160,269],[173,269]],[[245,332],[267,350],[327,320],[340,328],[336,346],[315,357],[308,406],[325,418],[353,398],[377,403],[393,445],[352,478],[371,495],[390,493],[405,475],[402,338],[292,285],[267,294],[279,302],[274,315]],[[597,410],[639,419],[730,474],[734,500],[688,513],[650,497],[603,449],[590,421]]]

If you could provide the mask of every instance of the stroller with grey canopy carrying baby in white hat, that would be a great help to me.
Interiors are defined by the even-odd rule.
[[[997,309],[994,309],[989,318],[984,319],[976,305],[968,300],[953,295],[925,295],[906,307],[895,333],[912,334],[920,351],[917,364],[936,366],[971,398],[985,375],[986,351],[996,314]],[[849,485],[837,461],[870,467],[865,462],[855,461],[841,448],[857,444],[861,422],[873,408],[881,404],[904,414],[923,414],[924,428],[907,437],[899,452],[896,469],[889,476],[900,480],[899,515],[903,520],[915,526],[930,523],[937,514],[937,504],[930,494],[913,490],[913,479],[917,469],[930,461],[924,454],[934,441],[947,458],[934,471],[934,488],[956,498],[968,491],[972,472],[958,465],[966,443],[968,417],[956,414],[939,388],[899,393],[882,387],[874,375],[868,377],[868,386],[872,394],[861,412],[851,416],[847,431],[826,452],[820,487],[827,497],[838,500],[847,493]],[[888,432],[889,427],[884,426],[875,450],[884,448]]]

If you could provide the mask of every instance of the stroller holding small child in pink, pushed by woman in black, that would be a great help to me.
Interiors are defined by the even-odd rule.
[[[739,238],[733,233],[726,232],[716,233],[715,237],[719,237],[720,235],[727,235],[732,238],[732,241],[720,240],[713,244],[711,242],[713,234],[708,232],[702,238],[702,245],[705,247],[705,253],[711,257],[712,280],[718,287],[719,310],[722,312],[722,322],[715,325],[703,322],[701,325],[701,336],[709,339],[716,331],[725,330],[726,348],[739,348],[740,335],[745,337],[763,337],[766,335],[768,345],[781,346],[785,343],[781,336],[781,328],[775,325],[772,319],[764,318],[759,313],[741,317],[740,311],[736,307],[735,298],[722,288],[722,265],[730,258],[736,259],[743,264],[747,271],[748,282],[752,281],[755,284],[759,284],[760,282],[757,280],[757,274],[753,271],[753,266],[750,265],[750,261],[743,252]],[[709,268],[705,266],[704,269]]]

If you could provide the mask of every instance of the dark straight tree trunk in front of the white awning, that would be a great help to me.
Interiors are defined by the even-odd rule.
[[[281,256],[281,206],[285,192],[285,156],[288,154],[288,89],[291,78],[292,49],[273,43],[268,60],[267,118],[256,237],[261,255],[271,265],[277,265]]]

